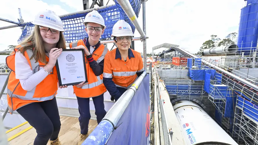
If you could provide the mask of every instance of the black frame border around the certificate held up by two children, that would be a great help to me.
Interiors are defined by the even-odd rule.
[[[66,53],[66,51],[78,51],[78,52],[81,52],[82,53],[82,60],[83,60],[83,69],[84,69],[84,75],[85,75],[85,83],[88,83],[88,77],[87,77],[87,70],[86,70],[86,61],[85,61],[85,55],[84,55],[84,50],[83,49],[63,49],[62,50],[62,53]],[[59,56],[60,57],[60,56]],[[61,75],[60,75],[60,69],[59,69],[59,65],[58,65],[58,58],[56,60],[56,63],[55,63],[55,66],[56,66],[56,70],[57,70],[57,78],[58,78],[58,81],[59,81],[59,86],[71,86],[71,85],[77,85],[77,84],[80,84],[82,83],[83,81],[78,81],[78,82],[74,82],[74,83],[62,83],[62,79],[61,79]],[[82,68],[78,68],[78,69],[82,69]]]

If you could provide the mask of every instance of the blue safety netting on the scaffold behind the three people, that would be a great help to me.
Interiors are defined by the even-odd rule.
[[[131,6],[136,14],[136,17],[138,17],[141,6],[140,0],[129,0],[129,2],[131,3]],[[100,39],[111,38],[112,28],[114,24],[121,19],[124,19],[127,23],[129,23],[133,30],[133,33],[135,32],[135,27],[125,14],[124,10],[117,3],[117,1],[115,1],[115,3],[116,5],[101,10],[98,10],[98,8],[96,8],[96,10],[104,18],[105,25],[107,27]],[[80,40],[84,37],[88,37],[84,25],[82,23],[84,21],[86,14],[88,14],[88,12],[83,14],[73,14],[61,17],[65,30],[63,34],[66,43],[71,43],[73,41]],[[34,25],[32,23],[27,23],[26,25],[21,24],[21,26],[24,26],[24,30],[22,31],[22,34],[18,39],[18,43],[21,43],[21,41],[24,38],[28,37],[34,29]]]

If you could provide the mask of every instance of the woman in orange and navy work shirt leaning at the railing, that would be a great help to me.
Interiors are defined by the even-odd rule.
[[[112,30],[112,35],[118,48],[109,51],[104,60],[103,83],[111,100],[117,101],[131,87],[143,71],[142,57],[139,52],[132,50],[133,32],[125,20],[119,20]]]

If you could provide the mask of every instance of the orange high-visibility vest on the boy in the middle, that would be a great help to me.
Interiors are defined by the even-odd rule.
[[[87,49],[82,39],[69,44],[70,48],[80,45],[84,46]],[[100,46],[92,53],[92,57],[94,60],[97,61],[97,63],[99,63],[104,59],[107,52],[109,52],[108,48],[106,48],[103,44],[100,44]],[[96,76],[93,73],[86,56],[85,61],[88,84],[82,86],[82,88],[77,88],[76,86],[73,86],[75,95],[77,97],[90,98],[104,94],[107,89],[103,84],[103,74]]]

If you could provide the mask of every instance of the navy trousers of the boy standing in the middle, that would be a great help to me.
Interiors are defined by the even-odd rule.
[[[106,110],[104,109],[104,94],[97,97],[92,97],[92,99],[95,106],[95,115],[97,116],[97,122],[99,124],[107,114]],[[91,119],[90,98],[77,97],[77,102],[80,113],[79,122],[81,134],[86,135],[88,133],[89,121]]]

